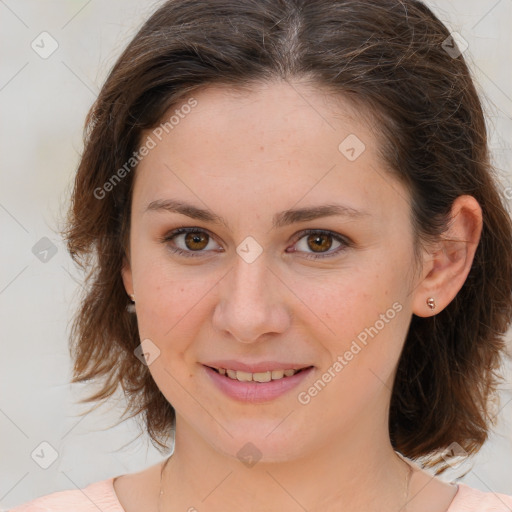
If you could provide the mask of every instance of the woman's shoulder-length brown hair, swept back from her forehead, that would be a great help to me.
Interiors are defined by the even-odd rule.
[[[463,56],[445,50],[449,37],[415,0],[173,0],[148,19],[87,116],[64,232],[87,271],[72,329],[73,382],[102,383],[86,401],[107,399],[121,385],[126,410],[143,414],[153,444],[166,448],[174,409],[134,355],[137,320],[126,311],[120,273],[135,172],[126,162],[142,131],[210,84],[250,89],[307,79],[370,109],[383,159],[410,190],[416,249],[442,236],[458,196],[472,195],[482,208],[462,289],[437,315],[413,315],[389,418],[393,447],[426,466],[442,466],[439,450],[452,442],[478,451],[493,423],[512,318],[512,222],[494,181],[478,94]]]

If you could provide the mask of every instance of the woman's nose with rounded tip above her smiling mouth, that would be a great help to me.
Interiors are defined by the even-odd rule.
[[[268,267],[264,255],[247,263],[236,255],[233,268],[219,282],[213,325],[241,343],[267,340],[290,325],[291,291]]]

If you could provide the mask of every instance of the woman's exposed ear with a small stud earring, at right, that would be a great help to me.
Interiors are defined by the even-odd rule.
[[[472,196],[459,196],[452,205],[447,231],[425,255],[422,278],[414,290],[415,315],[435,315],[455,298],[471,270],[482,224],[478,201]],[[426,302],[429,297],[435,300],[433,310]]]

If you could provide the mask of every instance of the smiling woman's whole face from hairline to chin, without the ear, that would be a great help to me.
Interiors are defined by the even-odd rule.
[[[268,461],[382,438],[416,293],[408,192],[319,90],[193,98],[144,134],[123,269],[178,431]]]

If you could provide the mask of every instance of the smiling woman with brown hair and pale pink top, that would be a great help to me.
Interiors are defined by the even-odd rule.
[[[88,116],[65,234],[74,382],[121,385],[174,451],[14,511],[512,510],[424,469],[487,439],[512,318],[457,49],[415,0],[157,10]]]

